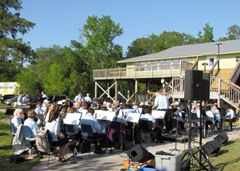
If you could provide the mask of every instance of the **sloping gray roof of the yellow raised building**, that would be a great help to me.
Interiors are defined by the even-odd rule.
[[[217,43],[221,43],[221,46],[219,47],[220,54],[240,52],[240,39],[238,39],[211,43],[174,46],[158,53],[120,60],[118,61],[118,63],[159,60],[166,58],[185,58],[193,56],[216,55],[218,53],[218,47],[216,46]]]

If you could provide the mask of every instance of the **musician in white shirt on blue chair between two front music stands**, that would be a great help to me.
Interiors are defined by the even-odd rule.
[[[95,153],[103,153],[101,148],[103,146],[103,140],[106,139],[106,134],[99,133],[100,125],[99,125],[98,121],[96,120],[96,118],[94,117],[94,113],[95,113],[94,109],[89,108],[87,110],[87,114],[85,116],[83,116],[83,118],[81,120],[81,124],[90,125],[92,127],[94,137],[96,139],[100,140],[100,145],[98,145],[97,142],[95,142],[97,145],[95,147],[94,152]]]

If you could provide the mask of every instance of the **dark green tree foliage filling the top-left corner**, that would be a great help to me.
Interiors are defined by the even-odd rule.
[[[35,25],[20,17],[21,8],[21,0],[0,1],[0,58],[4,61],[0,63],[0,68],[4,68],[2,65],[7,65],[12,71],[7,73],[8,70],[2,70],[2,77],[6,76],[4,79],[14,79],[23,63],[31,62],[33,58],[29,43],[24,43],[21,38],[17,38],[18,34],[26,34]],[[12,69],[13,65],[16,67],[15,70]]]

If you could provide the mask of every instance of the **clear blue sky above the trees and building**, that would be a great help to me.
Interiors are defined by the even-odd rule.
[[[228,27],[240,26],[239,0],[22,0],[21,17],[36,23],[23,36],[33,49],[80,41],[80,29],[89,16],[104,15],[120,24],[123,35],[115,43],[127,51],[137,38],[163,31],[197,37],[206,23],[214,39],[226,36]]]

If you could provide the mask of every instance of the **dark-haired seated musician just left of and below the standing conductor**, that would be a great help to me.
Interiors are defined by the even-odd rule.
[[[152,130],[155,133],[154,135],[151,135],[151,139],[152,142],[156,142],[156,143],[164,143],[163,139],[162,139],[162,129],[160,127],[157,127],[157,124],[155,122],[154,117],[151,115],[152,113],[152,107],[151,106],[145,106],[143,107],[143,111],[142,111],[142,115],[140,117],[140,121],[139,121],[139,127],[141,129],[144,129],[141,127],[141,120],[147,120],[147,121],[151,121],[153,123],[153,127]]]

